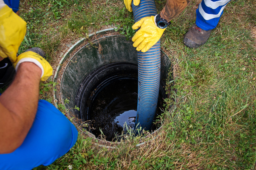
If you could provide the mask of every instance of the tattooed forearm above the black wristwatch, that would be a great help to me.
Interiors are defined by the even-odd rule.
[[[189,2],[190,0],[167,0],[166,6],[160,12],[161,18],[171,21],[188,6]]]

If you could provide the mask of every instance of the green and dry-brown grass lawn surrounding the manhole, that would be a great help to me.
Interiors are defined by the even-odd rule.
[[[165,3],[156,1],[158,12]],[[161,39],[174,79],[161,133],[140,147],[133,139],[117,149],[95,146],[81,133],[66,155],[34,170],[256,169],[256,0],[231,0],[208,42],[189,49],[182,40],[199,3],[191,0]],[[19,53],[40,47],[53,69],[68,44],[90,33],[117,26],[134,34],[133,15],[117,0],[24,0],[20,16],[27,33]],[[52,102],[51,85],[41,83],[40,98]]]

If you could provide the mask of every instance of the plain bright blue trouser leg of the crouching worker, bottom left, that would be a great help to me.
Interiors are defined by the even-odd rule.
[[[58,109],[39,100],[35,120],[23,144],[10,154],[0,154],[0,170],[31,170],[50,165],[76,143],[75,126]]]

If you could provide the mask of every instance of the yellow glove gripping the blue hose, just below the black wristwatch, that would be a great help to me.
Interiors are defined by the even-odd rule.
[[[136,50],[145,53],[148,51],[162,36],[165,29],[160,29],[155,24],[155,16],[142,18],[136,22],[132,28],[138,29],[132,38],[133,46],[137,47]]]

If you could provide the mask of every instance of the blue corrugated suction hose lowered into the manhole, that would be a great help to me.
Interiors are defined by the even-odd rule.
[[[154,0],[141,0],[138,6],[133,5],[134,21],[156,15]],[[150,130],[157,107],[160,84],[160,40],[147,52],[138,51],[138,105],[135,130],[142,127]]]

